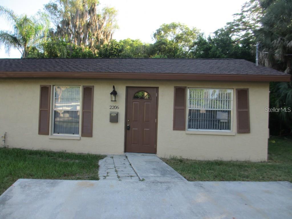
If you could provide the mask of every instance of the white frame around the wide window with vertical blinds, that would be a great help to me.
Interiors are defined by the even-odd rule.
[[[188,127],[189,122],[189,109],[201,109],[201,108],[189,108],[189,98],[190,98],[190,90],[191,89],[205,89],[205,90],[230,90],[231,91],[231,109],[225,109],[230,110],[230,130],[217,130],[217,129],[194,129],[194,128],[186,128],[187,131],[202,131],[202,132],[232,132],[233,130],[233,89],[232,88],[187,88],[187,111],[186,111],[186,127]],[[210,109],[210,110],[222,110],[222,109]]]

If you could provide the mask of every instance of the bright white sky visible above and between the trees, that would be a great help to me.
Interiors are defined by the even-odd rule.
[[[240,12],[247,0],[100,0],[101,6],[112,6],[118,10],[119,29],[114,39],[140,39],[151,43],[153,32],[163,23],[181,22],[189,27],[201,29],[207,36],[232,21],[232,15]],[[0,0],[0,5],[12,9],[16,14],[34,15],[49,0]],[[0,29],[12,30],[11,25],[0,17]],[[0,58],[20,58],[18,50],[10,56],[0,49]]]

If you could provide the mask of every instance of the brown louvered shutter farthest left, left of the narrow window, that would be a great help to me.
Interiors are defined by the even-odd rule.
[[[41,85],[39,95],[39,135],[49,134],[51,85]]]

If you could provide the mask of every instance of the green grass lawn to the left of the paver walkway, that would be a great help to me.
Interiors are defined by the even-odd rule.
[[[105,156],[0,148],[0,194],[19,178],[98,180]]]

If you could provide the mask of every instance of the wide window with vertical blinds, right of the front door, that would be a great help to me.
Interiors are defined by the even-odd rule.
[[[188,130],[231,130],[232,90],[188,89]]]

